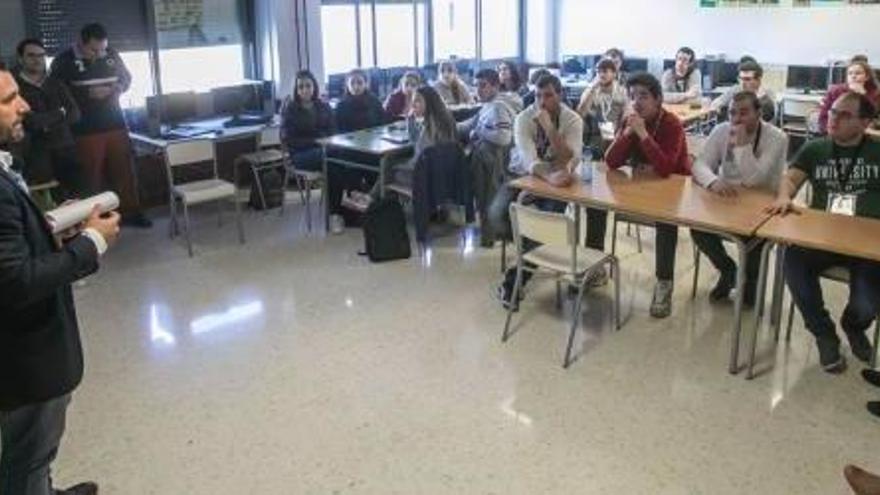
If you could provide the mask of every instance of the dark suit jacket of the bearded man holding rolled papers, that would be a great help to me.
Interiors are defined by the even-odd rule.
[[[83,356],[70,284],[98,269],[79,235],[55,244],[43,213],[0,170],[0,410],[73,391]]]

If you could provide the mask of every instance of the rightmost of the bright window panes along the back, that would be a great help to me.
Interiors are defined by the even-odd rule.
[[[482,0],[481,56],[515,57],[519,53],[519,1]]]

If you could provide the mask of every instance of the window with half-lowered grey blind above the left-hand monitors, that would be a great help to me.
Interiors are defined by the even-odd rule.
[[[245,79],[238,0],[153,0],[162,92],[208,91]]]

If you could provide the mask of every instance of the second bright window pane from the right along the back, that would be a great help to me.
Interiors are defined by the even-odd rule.
[[[432,0],[434,58],[477,55],[476,0]]]

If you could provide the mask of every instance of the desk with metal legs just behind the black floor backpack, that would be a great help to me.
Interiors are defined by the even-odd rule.
[[[330,165],[366,170],[378,174],[379,187],[384,194],[386,163],[391,158],[409,153],[413,149],[412,143],[409,142],[405,124],[399,122],[345,134],[336,134],[319,139],[318,144],[324,148],[324,180],[322,182],[321,200],[324,202],[324,226],[326,229],[330,227],[330,195],[328,191],[330,183],[328,167]],[[334,157],[331,154],[332,150],[352,151],[378,158],[379,165],[377,167],[370,163],[355,161],[348,156],[345,158]]]

